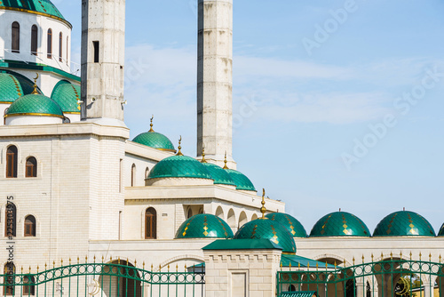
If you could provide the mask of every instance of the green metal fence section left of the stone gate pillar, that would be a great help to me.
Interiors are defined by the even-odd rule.
[[[62,264],[62,263],[61,263]],[[145,265],[143,265],[145,268]],[[204,296],[205,274],[198,271],[153,271],[135,268],[127,261],[77,263],[43,271],[31,268],[0,275],[4,296]]]

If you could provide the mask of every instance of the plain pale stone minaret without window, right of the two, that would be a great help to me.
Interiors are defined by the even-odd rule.
[[[233,161],[233,0],[199,0],[197,154]]]

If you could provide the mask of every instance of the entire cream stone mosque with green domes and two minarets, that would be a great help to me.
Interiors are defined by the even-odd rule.
[[[155,118],[130,139],[124,0],[82,1],[81,65],[71,60],[72,26],[50,0],[0,0],[0,221],[8,247],[0,250],[0,296],[406,296],[407,287],[409,296],[444,296],[444,224],[434,230],[402,210],[371,232],[339,210],[307,232],[236,170],[233,0],[198,0],[198,9],[199,153],[187,157]],[[403,266],[422,261],[429,269]],[[80,286],[76,270],[75,289],[74,274],[40,282],[42,271],[71,262],[129,267],[139,278],[107,266],[83,272]],[[311,276],[322,268],[344,277],[370,262],[372,272],[353,270],[352,283],[297,278],[314,268]],[[153,280],[170,270],[194,275],[194,286],[195,274],[205,280],[191,294],[175,278],[172,293]],[[7,277],[16,274],[20,281]],[[419,285],[406,285],[406,275]]]

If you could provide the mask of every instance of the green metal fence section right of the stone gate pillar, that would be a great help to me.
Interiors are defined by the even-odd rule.
[[[444,297],[444,264],[390,259],[335,268],[287,268],[277,273],[277,295]]]

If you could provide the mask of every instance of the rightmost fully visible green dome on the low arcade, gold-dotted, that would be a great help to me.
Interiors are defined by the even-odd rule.
[[[374,237],[434,237],[435,231],[429,221],[413,212],[395,212],[377,224]]]

